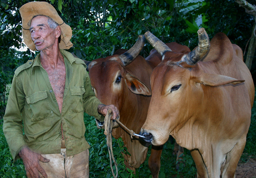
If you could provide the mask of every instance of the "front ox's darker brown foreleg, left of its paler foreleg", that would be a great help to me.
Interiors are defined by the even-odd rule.
[[[191,155],[195,161],[195,167],[197,171],[197,178],[208,178],[207,169],[205,167],[202,155],[197,149],[191,150]]]

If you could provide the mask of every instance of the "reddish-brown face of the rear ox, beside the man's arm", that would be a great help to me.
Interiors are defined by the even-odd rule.
[[[121,109],[122,91],[125,87],[124,69],[120,63],[115,60],[100,58],[93,60],[93,66],[89,70],[91,85],[96,97],[105,105],[116,105]]]

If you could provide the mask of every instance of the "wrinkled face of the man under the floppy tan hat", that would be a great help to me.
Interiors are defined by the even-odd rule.
[[[39,51],[50,48],[56,42],[56,29],[50,28],[47,20],[45,16],[37,16],[32,19],[29,28],[31,38]]]

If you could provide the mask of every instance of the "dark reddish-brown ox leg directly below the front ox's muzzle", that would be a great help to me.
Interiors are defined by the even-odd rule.
[[[160,158],[162,155],[163,146],[153,146],[151,147],[151,154],[149,156],[149,170],[152,174],[152,178],[158,178],[160,171]]]

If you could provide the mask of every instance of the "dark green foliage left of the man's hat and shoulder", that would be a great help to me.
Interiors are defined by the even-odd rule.
[[[7,95],[14,70],[28,59],[33,58],[30,50],[19,52],[16,49],[24,46],[21,41],[21,20],[17,9],[24,0],[1,0],[0,11],[0,119],[5,113]]]

